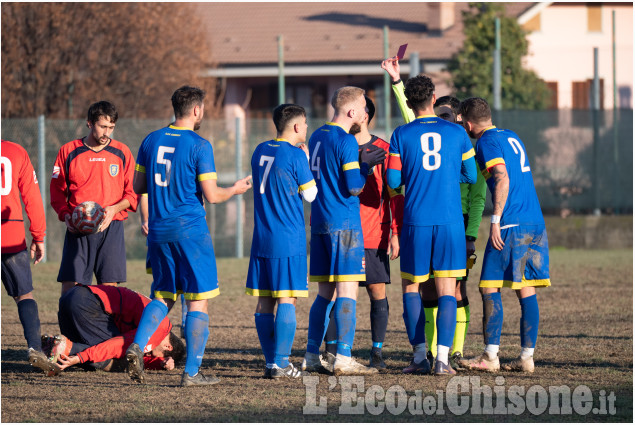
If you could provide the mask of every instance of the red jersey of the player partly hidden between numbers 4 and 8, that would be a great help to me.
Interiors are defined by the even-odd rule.
[[[390,231],[393,235],[401,232],[404,197],[386,184],[388,168],[388,148],[390,145],[377,136],[367,144],[379,146],[386,151],[386,159],[375,166],[373,174],[366,178],[364,190],[359,195],[362,232],[365,249],[388,249]],[[365,145],[360,146],[360,150]]]

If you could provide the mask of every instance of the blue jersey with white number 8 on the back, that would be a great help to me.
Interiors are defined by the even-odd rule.
[[[461,163],[474,148],[462,127],[436,115],[417,117],[393,132],[389,152],[401,160],[404,224],[463,222]]]

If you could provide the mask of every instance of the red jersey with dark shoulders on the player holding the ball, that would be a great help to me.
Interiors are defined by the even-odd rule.
[[[51,176],[51,205],[60,221],[82,202],[108,207],[122,199],[127,199],[130,207],[113,220],[128,218],[128,210],[137,210],[137,194],[132,188],[134,167],[128,146],[114,139],[99,152],[86,146],[83,139],[63,145]]]

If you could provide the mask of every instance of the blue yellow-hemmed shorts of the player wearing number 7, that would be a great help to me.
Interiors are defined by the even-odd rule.
[[[251,257],[245,293],[255,297],[308,297],[306,257]]]

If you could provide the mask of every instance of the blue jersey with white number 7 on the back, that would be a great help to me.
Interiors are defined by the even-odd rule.
[[[300,192],[315,186],[306,154],[282,139],[261,143],[251,157],[251,173],[254,181],[251,255],[306,256]]]

